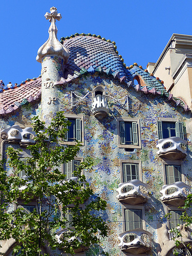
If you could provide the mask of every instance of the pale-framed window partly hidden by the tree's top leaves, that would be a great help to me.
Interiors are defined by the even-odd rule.
[[[70,121],[71,125],[67,128],[69,131],[66,133],[66,137],[62,139],[63,144],[74,145],[76,141],[83,142],[83,116],[82,115],[66,115],[66,122]],[[82,143],[83,144],[83,143]]]

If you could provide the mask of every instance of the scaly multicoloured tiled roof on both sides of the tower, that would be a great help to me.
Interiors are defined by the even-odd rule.
[[[62,38],[61,44],[69,50],[70,57],[65,65],[64,77],[58,81],[58,84],[65,85],[82,75],[104,73],[126,84],[128,88],[132,86],[136,91],[145,94],[164,95],[169,100],[174,100],[176,105],[183,106],[185,111],[188,110],[188,106],[183,101],[166,92],[163,81],[159,78],[143,70],[137,63],[126,67],[122,56],[118,55],[115,42],[101,39],[96,35],[77,34]],[[134,79],[137,79],[138,84],[133,83]],[[41,76],[27,79],[15,87],[0,90],[0,116],[14,112],[19,106],[28,102],[39,100],[40,95]]]

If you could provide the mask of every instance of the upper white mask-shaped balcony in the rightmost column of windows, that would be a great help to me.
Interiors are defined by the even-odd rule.
[[[186,157],[186,140],[179,137],[160,139],[157,144],[157,155],[165,160],[182,160]]]

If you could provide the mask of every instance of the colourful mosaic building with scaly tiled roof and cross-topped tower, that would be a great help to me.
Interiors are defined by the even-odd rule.
[[[137,63],[126,68],[115,42],[83,33],[59,42],[55,19],[61,16],[56,8],[50,11],[45,15],[51,21],[49,39],[37,54],[41,75],[0,91],[1,154],[5,157],[11,144],[23,148],[23,158],[29,156],[26,145],[35,136],[31,118],[38,115],[49,124],[57,111],[65,112],[72,125],[62,144],[78,140],[82,146],[61,171],[73,177],[81,160],[95,159],[84,175],[107,202],[102,218],[108,237],[77,255],[103,250],[111,256],[171,256],[175,244],[169,230],[180,223],[178,207],[192,182],[190,110]],[[172,214],[168,221],[167,213]],[[190,229],[180,229],[190,243]],[[2,245],[11,255],[11,241]]]

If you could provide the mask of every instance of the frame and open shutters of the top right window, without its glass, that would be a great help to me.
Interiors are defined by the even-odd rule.
[[[162,122],[175,123],[175,125],[176,125],[176,127],[175,127],[176,137],[179,137],[179,138],[184,140],[183,122],[179,121],[178,118],[163,118],[163,117],[161,117],[161,118],[159,118],[159,120],[157,120],[157,136],[158,136],[158,140],[166,139],[166,138],[163,138]],[[161,125],[161,127],[160,127],[161,129],[159,129],[160,125]],[[181,125],[181,127],[179,125]],[[178,136],[178,135],[181,135],[181,136]],[[170,138],[170,137],[168,137],[168,138]]]

